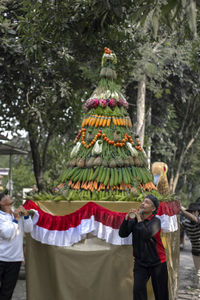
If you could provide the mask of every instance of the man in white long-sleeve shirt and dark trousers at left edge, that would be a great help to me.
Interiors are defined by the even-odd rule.
[[[12,210],[8,191],[0,194],[0,299],[10,300],[17,283],[23,254],[23,233],[33,223],[23,206]]]

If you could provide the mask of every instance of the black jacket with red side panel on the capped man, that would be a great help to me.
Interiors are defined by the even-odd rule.
[[[166,261],[165,249],[160,237],[160,219],[154,215],[139,223],[137,218],[124,219],[119,229],[119,236],[124,238],[131,233],[136,263],[144,267],[153,267]]]

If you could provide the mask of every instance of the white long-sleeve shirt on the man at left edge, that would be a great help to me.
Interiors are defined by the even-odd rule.
[[[14,215],[0,210],[0,261],[23,261],[23,234],[31,232],[31,217],[20,217],[18,223]]]

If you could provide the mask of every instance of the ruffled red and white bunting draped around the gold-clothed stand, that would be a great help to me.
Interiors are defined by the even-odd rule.
[[[35,210],[33,216],[33,239],[54,246],[72,246],[86,238],[88,233],[113,245],[131,245],[132,237],[120,238],[120,224],[126,213],[106,209],[94,202],[88,202],[75,212],[65,216],[54,216],[41,210],[35,202],[27,200],[24,207]],[[164,232],[178,229],[177,214],[180,203],[160,202],[158,214]]]

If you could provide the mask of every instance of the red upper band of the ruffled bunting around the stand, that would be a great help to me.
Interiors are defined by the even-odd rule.
[[[48,230],[68,230],[71,227],[80,225],[82,219],[90,219],[94,216],[95,220],[103,225],[119,229],[126,213],[118,213],[106,209],[94,202],[88,202],[77,211],[65,216],[53,216],[41,210],[35,202],[27,200],[24,204],[26,209],[35,209],[39,212],[37,225]],[[169,216],[178,214],[180,211],[179,202],[160,202],[158,215],[167,214]]]

